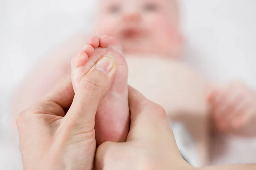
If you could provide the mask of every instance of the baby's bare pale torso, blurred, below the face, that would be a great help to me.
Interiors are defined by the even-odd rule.
[[[208,111],[206,83],[182,62],[159,57],[129,56],[126,59],[128,84],[163,106],[169,116]]]

